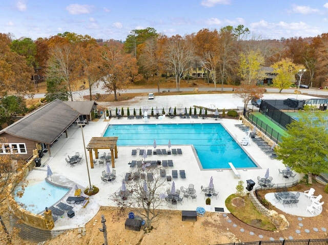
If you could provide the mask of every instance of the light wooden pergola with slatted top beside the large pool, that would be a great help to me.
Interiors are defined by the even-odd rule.
[[[112,168],[115,168],[114,158],[117,158],[117,140],[118,137],[92,137],[92,139],[90,140],[89,144],[86,147],[90,155],[91,168],[93,168],[92,150],[94,150],[95,158],[98,159],[98,149],[111,150]]]

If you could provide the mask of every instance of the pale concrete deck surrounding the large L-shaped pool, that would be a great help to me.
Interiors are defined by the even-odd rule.
[[[208,95],[202,95],[199,97],[201,100],[202,98]],[[223,96],[223,95],[222,95]],[[232,101],[232,98],[228,98],[227,95],[224,98],[224,104],[220,107],[230,108],[235,106],[234,104],[230,104],[229,100]],[[171,96],[170,96],[171,97]],[[178,97],[178,96],[177,96]],[[196,97],[196,96],[193,96]],[[288,97],[288,95],[280,96],[280,98]],[[291,97],[289,95],[289,97]],[[308,96],[309,97],[309,96]],[[306,97],[306,98],[308,98]],[[158,97],[156,97],[157,99]],[[155,99],[155,100],[156,100]],[[153,100],[155,102],[155,100]],[[170,98],[171,102],[173,101]],[[195,100],[195,99],[194,99]],[[234,101],[240,99],[233,99]],[[142,102],[141,102],[142,103]],[[174,105],[174,102],[172,102]],[[197,104],[195,101],[193,104]],[[242,106],[242,102],[239,101],[238,106]],[[206,104],[201,104],[202,106],[207,106]],[[141,105],[140,105],[141,106]],[[160,105],[158,105],[160,106]],[[187,105],[187,108],[190,105]],[[135,106],[137,108],[137,106]],[[154,107],[156,104],[154,103]],[[219,107],[219,108],[220,108]],[[104,120],[102,117],[97,122],[90,122],[89,125],[86,125],[83,128],[85,144],[87,145],[92,137],[101,137],[103,132],[106,130],[109,124],[144,124],[144,120],[128,120],[127,118],[122,119],[111,119],[109,122]],[[235,127],[235,124],[240,123],[239,120],[233,119],[219,119],[214,120],[213,118],[207,118],[205,120],[199,119],[180,119],[175,118],[164,118],[162,120],[150,118],[148,120],[149,124],[159,124],[159,123],[222,123],[223,126],[230,132],[230,134],[237,139],[238,142],[242,140],[245,136],[245,132],[241,131],[239,128]],[[292,182],[292,180],[282,179],[279,176],[278,169],[284,169],[284,165],[281,161],[278,160],[271,160],[268,155],[264,154],[260,148],[257,147],[256,144],[252,143],[251,145],[244,146],[245,151],[247,154],[255,161],[255,163],[259,166],[256,169],[237,169],[240,174],[240,179],[234,179],[234,173],[232,170],[226,169],[222,171],[217,170],[200,170],[197,159],[194,157],[193,147],[190,145],[174,145],[172,143],[172,148],[181,148],[182,155],[165,155],[165,156],[158,156],[158,155],[151,155],[148,156],[147,160],[169,160],[172,159],[174,163],[174,167],[167,168],[167,175],[171,175],[171,170],[176,169],[184,169],[186,171],[186,179],[174,179],[175,186],[177,189],[180,186],[188,187],[189,184],[194,184],[196,189],[196,200],[184,199],[182,205],[178,203],[174,206],[163,206],[163,209],[176,209],[176,210],[196,210],[197,207],[204,207],[205,206],[205,198],[204,194],[201,194],[201,186],[207,187],[210,182],[211,176],[213,176],[213,184],[215,186],[215,190],[219,191],[217,199],[212,197],[212,212],[215,212],[214,208],[223,208],[224,212],[229,213],[228,209],[225,206],[226,198],[231,195],[232,193],[236,192],[236,186],[238,181],[243,181],[244,186],[246,186],[247,180],[253,180],[257,183],[257,176],[263,177],[265,174],[265,170],[267,168],[270,169],[270,176],[273,177],[273,183],[286,183]],[[62,218],[58,218],[55,222],[54,230],[64,230],[64,229],[73,229],[77,227],[83,227],[88,221],[90,221],[94,215],[99,210],[99,206],[116,206],[113,201],[113,194],[115,191],[119,190],[121,187],[121,181],[124,179],[124,176],[127,172],[131,171],[130,165],[128,164],[132,160],[141,160],[142,157],[138,155],[133,157],[131,155],[132,149],[136,148],[145,148],[145,145],[142,146],[125,146],[120,147],[118,146],[118,158],[115,159],[115,170],[116,170],[116,182],[103,184],[101,183],[101,172],[106,170],[106,165],[99,166],[96,165],[93,169],[90,168],[90,160],[89,155],[87,156],[87,161],[89,164],[89,172],[90,172],[90,179],[91,184],[95,185],[99,188],[99,193],[90,197],[90,204],[85,209],[81,208],[81,205],[76,205],[74,207],[74,211],[76,211],[75,216],[73,218],[68,218],[64,216]],[[153,149],[152,145],[147,146],[148,149]],[[157,148],[165,148],[168,150],[167,145],[157,145]],[[80,154],[84,155],[84,161],[81,165],[76,165],[74,167],[70,167],[67,165],[65,158],[67,155],[73,155],[75,152],[79,152]],[[103,152],[109,152],[109,150],[99,150],[99,153],[102,154]],[[68,130],[68,138],[61,137],[58,142],[51,148],[52,156],[49,157],[48,152],[45,153],[45,157],[42,158],[42,166],[36,167],[35,170],[32,172],[38,172],[38,174],[34,174],[33,176],[30,174],[28,175],[28,179],[33,177],[34,180],[44,180],[47,177],[47,165],[49,164],[52,172],[54,174],[66,176],[71,182],[70,187],[74,186],[76,183],[81,188],[86,188],[89,186],[89,179],[87,174],[87,166],[86,166],[86,155],[83,147],[83,138],[80,127],[73,125]],[[87,151],[87,154],[88,151]],[[218,160],[219,161],[219,160]],[[159,169],[159,168],[158,168]],[[42,173],[42,174],[40,174]],[[298,179],[299,176],[296,175],[295,180]],[[163,192],[171,187],[172,182],[167,182],[167,185],[163,188]],[[257,186],[257,185],[256,185]],[[247,192],[247,190],[245,190]],[[69,195],[72,195],[70,193]],[[62,202],[66,203],[66,197],[63,198]],[[82,210],[82,211],[78,211]],[[80,213],[79,213],[80,212]],[[305,212],[305,210],[304,210]]]

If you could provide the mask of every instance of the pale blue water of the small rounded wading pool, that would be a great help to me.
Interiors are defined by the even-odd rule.
[[[69,191],[69,189],[53,186],[46,181],[28,184],[22,197],[16,195],[20,189],[18,188],[15,191],[16,203],[35,214],[43,212],[46,207],[54,205]]]

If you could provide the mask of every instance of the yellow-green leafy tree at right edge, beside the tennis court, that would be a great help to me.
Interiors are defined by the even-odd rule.
[[[308,174],[312,184],[312,174],[328,171],[328,129],[327,111],[318,112],[306,108],[300,112],[299,121],[287,125],[287,135],[276,149],[277,159],[299,173]]]

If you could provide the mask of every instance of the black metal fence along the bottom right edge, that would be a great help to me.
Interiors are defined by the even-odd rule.
[[[282,240],[282,241],[250,241],[250,242],[232,242],[216,245],[326,245],[328,244],[328,239],[306,239],[306,240]]]

